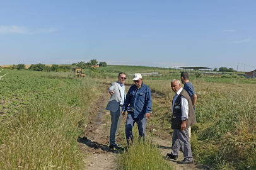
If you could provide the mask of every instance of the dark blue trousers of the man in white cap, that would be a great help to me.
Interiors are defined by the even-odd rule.
[[[145,133],[146,133],[146,118],[134,118],[134,113],[128,113],[127,119],[126,119],[126,125],[125,125],[125,135],[127,144],[130,144],[133,141],[133,133],[132,133],[132,127],[134,126],[134,123],[137,123],[138,130],[139,130],[139,139],[143,137],[143,140],[145,140]]]

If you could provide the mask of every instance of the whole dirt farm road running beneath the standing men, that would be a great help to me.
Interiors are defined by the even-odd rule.
[[[129,88],[129,87],[127,87]],[[105,110],[107,106],[110,94],[107,89],[105,93],[102,94],[100,98],[100,105],[95,106],[93,109],[97,111],[95,118],[86,127],[84,136],[79,137],[79,147],[87,152],[86,156],[86,169],[88,170],[110,170],[117,169],[119,165],[117,164],[117,154],[118,151],[114,149],[109,149],[109,131],[110,131],[110,113]],[[156,98],[154,92],[152,92],[152,98]],[[152,115],[153,116],[153,115]],[[122,119],[122,125],[125,124],[126,117]],[[121,125],[121,126],[122,126]],[[147,132],[148,133],[148,132]],[[117,142],[120,140],[125,140],[124,137],[120,137],[120,133],[117,136]],[[163,156],[166,153],[170,153],[172,146],[172,141],[158,139],[153,137],[153,141],[158,144],[160,152]],[[183,159],[182,152],[179,153],[178,161]],[[195,164],[181,165],[177,164],[176,161],[166,160],[173,166],[176,170],[195,170],[195,169],[206,169]]]

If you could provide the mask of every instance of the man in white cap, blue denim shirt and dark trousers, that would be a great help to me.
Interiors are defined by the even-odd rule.
[[[132,127],[136,122],[139,130],[139,138],[145,139],[146,123],[150,117],[150,111],[152,110],[152,99],[150,88],[143,84],[143,77],[141,74],[134,74],[134,85],[129,89],[124,106],[122,108],[122,115],[125,115],[125,111],[128,112],[125,125],[125,135],[128,144],[132,144],[133,134]]]

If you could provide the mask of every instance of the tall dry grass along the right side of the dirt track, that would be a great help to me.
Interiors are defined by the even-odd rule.
[[[197,124],[192,127],[191,141],[195,161],[212,169],[255,169],[255,85],[192,83],[197,92]],[[158,128],[166,130],[166,114],[171,114],[166,110],[170,109],[174,94],[170,81],[147,80],[145,84],[165,94],[165,101],[153,103],[161,125],[157,118],[153,120]]]

